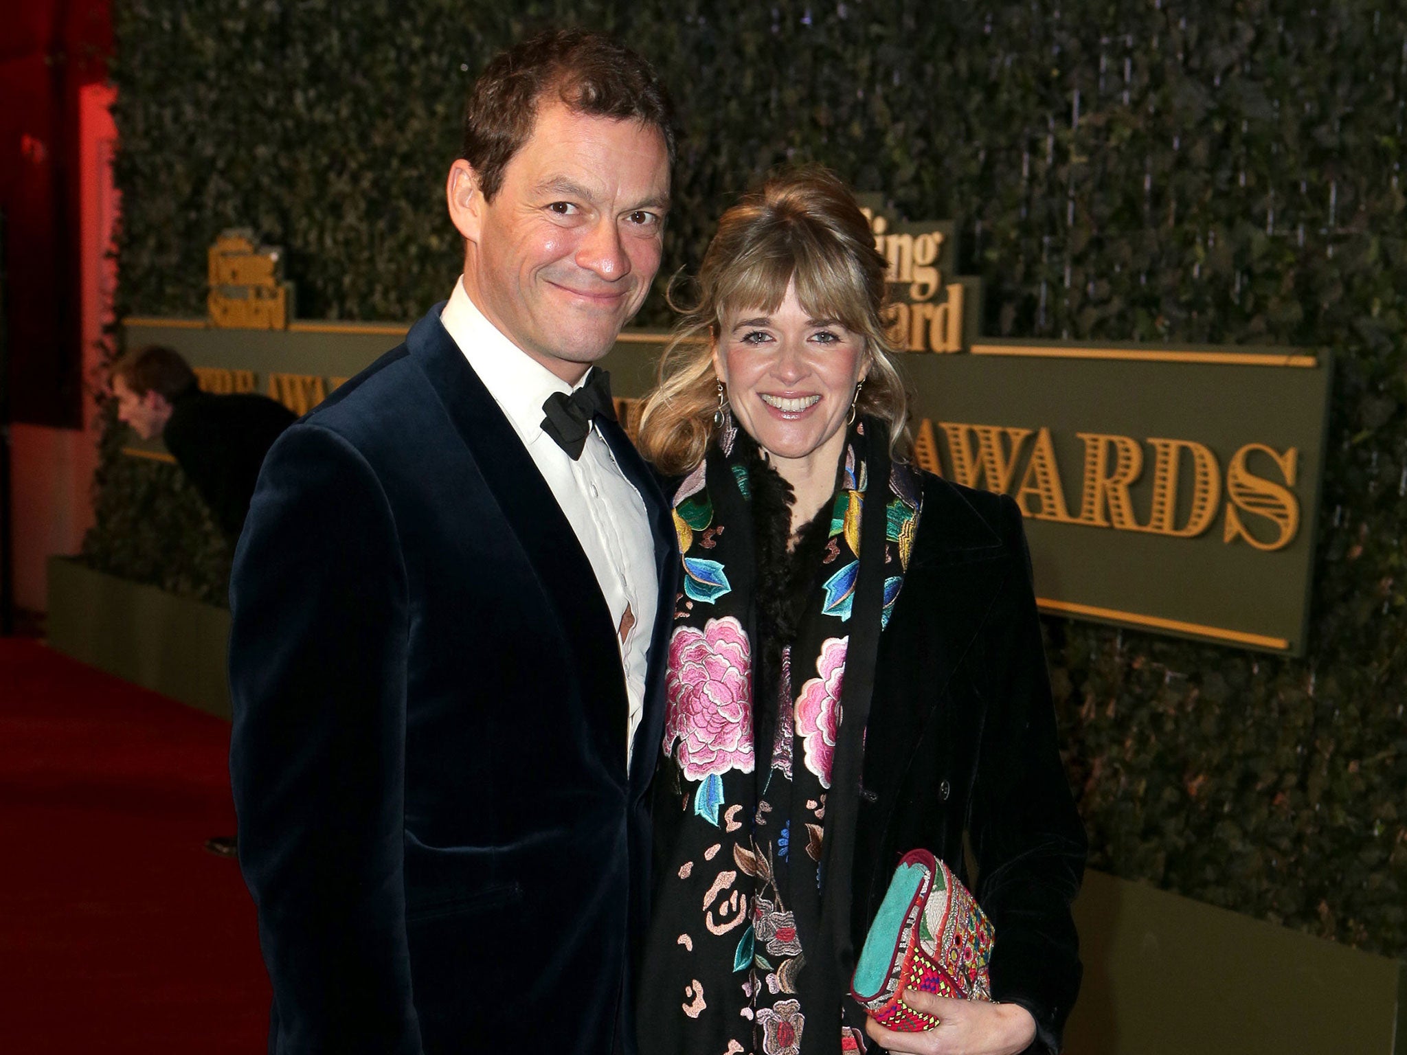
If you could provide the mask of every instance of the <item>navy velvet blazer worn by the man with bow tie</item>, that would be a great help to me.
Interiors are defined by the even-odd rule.
[[[269,1049],[629,1052],[668,506],[602,423],[660,574],[628,774],[606,602],[440,308],[279,439],[235,556],[231,776]]]

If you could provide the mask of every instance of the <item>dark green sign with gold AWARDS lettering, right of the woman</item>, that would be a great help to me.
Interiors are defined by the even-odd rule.
[[[1327,353],[983,340],[955,225],[871,226],[916,460],[1016,499],[1043,610],[1303,651]]]

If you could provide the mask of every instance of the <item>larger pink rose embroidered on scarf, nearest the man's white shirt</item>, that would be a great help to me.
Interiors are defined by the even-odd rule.
[[[687,779],[753,771],[749,668],[747,633],[734,616],[709,619],[704,630],[681,626],[670,639],[664,754],[680,746]]]

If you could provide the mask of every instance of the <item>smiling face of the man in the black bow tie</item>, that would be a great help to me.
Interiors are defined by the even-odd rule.
[[[466,162],[449,177],[466,291],[518,347],[575,383],[615,345],[660,269],[670,169],[636,121],[543,104],[491,203]]]

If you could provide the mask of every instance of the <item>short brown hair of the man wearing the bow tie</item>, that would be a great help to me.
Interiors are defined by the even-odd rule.
[[[657,128],[674,165],[674,107],[654,68],[606,34],[549,30],[494,56],[464,106],[460,158],[473,166],[485,201],[532,135],[549,91],[574,113]]]

